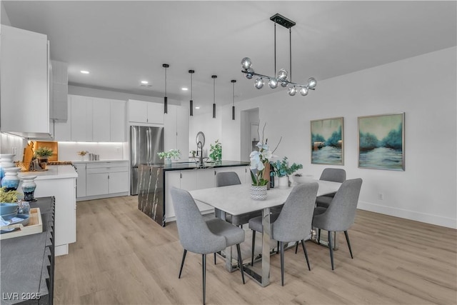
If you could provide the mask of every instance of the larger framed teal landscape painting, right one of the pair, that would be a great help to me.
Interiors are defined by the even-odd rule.
[[[405,170],[405,113],[358,117],[358,167]]]

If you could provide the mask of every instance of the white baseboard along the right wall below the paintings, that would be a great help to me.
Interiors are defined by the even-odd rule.
[[[425,222],[426,224],[435,224],[436,226],[446,226],[447,228],[457,229],[457,219],[418,213],[406,209],[397,209],[391,206],[381,206],[379,204],[371,204],[369,202],[358,201],[357,209],[372,211],[379,214],[410,219],[414,221]]]

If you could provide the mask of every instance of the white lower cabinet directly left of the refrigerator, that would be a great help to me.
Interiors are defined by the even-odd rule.
[[[82,178],[82,174],[78,177],[78,188],[80,188],[80,178]],[[83,191],[78,192],[78,195],[81,195],[78,196],[78,201],[128,195],[128,161],[87,163],[85,184],[85,194]]]

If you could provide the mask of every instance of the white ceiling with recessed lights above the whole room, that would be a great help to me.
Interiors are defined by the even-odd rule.
[[[456,1],[2,1],[11,26],[47,34],[69,84],[189,101],[209,109],[283,90],[257,90],[241,73],[273,75],[273,14],[296,22],[292,81],[306,84],[456,46]],[[2,24],[5,16],[2,14]],[[8,21],[6,21],[7,23]],[[276,29],[277,69],[289,66],[288,30]],[[89,70],[90,74],[79,71]],[[217,75],[213,82],[211,75]],[[150,81],[150,87],[140,81]],[[356,89],[357,84],[354,84]],[[306,99],[297,95],[289,99]]]

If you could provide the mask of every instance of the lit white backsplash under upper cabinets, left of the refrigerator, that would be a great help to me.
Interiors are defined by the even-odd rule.
[[[98,154],[101,161],[129,159],[126,142],[59,142],[59,161],[81,161],[81,156],[77,154],[77,151],[89,151],[90,154]],[[89,161],[89,153],[84,156],[85,161]]]

